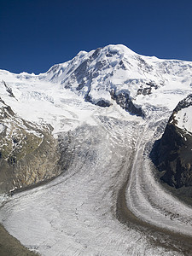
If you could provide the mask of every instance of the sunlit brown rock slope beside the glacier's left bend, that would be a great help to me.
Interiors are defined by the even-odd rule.
[[[0,193],[26,188],[61,174],[61,151],[51,126],[26,122],[5,103],[0,108]]]

